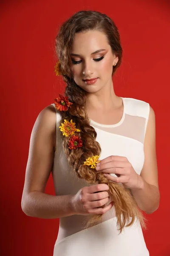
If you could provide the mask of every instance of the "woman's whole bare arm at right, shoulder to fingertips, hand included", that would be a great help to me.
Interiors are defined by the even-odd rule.
[[[140,175],[135,172],[126,157],[120,156],[106,157],[97,163],[96,170],[103,172],[109,180],[130,188],[139,208],[147,214],[158,209],[160,193],[156,160],[156,122],[151,107],[144,139],[144,166]],[[111,173],[118,177],[111,176]]]

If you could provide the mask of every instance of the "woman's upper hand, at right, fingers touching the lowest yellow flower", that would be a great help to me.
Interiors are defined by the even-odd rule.
[[[96,170],[103,172],[108,180],[122,183],[126,188],[139,189],[142,186],[142,177],[135,172],[126,157],[106,157],[97,163]],[[110,175],[111,173],[116,174],[118,177],[113,177]]]

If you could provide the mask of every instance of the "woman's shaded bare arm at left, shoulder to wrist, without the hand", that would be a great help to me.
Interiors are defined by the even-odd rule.
[[[53,106],[43,109],[34,124],[21,207],[26,215],[37,218],[60,218],[73,215],[73,195],[48,195],[45,186],[54,159],[56,112]],[[59,171],[59,170],[58,170]]]

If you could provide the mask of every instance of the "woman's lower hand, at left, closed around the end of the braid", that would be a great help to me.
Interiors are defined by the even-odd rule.
[[[73,195],[71,206],[76,215],[104,214],[113,207],[113,201],[106,207],[102,207],[109,201],[109,187],[107,184],[85,186]]]

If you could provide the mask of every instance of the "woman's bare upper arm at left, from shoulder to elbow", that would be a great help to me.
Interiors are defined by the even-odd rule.
[[[49,105],[40,111],[31,132],[22,197],[24,208],[29,192],[45,191],[53,166],[55,133],[56,111]]]

